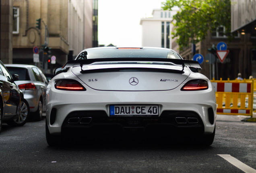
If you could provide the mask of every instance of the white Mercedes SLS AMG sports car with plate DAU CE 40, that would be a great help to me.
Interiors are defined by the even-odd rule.
[[[46,139],[74,135],[197,135],[211,145],[216,99],[200,64],[167,48],[83,50],[47,86]]]

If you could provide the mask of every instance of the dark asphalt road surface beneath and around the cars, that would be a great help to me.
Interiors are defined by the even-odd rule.
[[[244,118],[218,115],[210,147],[161,139],[50,147],[45,119],[23,127],[3,124],[0,173],[256,173],[256,123],[242,122]]]

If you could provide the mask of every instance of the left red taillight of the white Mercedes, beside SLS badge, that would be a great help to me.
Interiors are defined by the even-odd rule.
[[[54,87],[58,90],[66,91],[86,91],[86,89],[77,82],[76,80],[71,79],[61,79],[57,80],[54,84]]]

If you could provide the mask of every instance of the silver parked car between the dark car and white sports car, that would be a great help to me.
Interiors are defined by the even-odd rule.
[[[26,64],[5,64],[10,74],[19,74],[15,83],[23,91],[24,98],[29,103],[31,118],[41,120],[45,111],[45,94],[47,79],[37,66]]]

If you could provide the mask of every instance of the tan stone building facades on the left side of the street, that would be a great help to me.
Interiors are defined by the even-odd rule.
[[[83,49],[93,47],[94,0],[1,0],[1,9],[7,1],[12,32],[8,50],[12,57],[2,56],[7,49],[2,51],[1,44],[4,63],[34,64],[52,73],[55,66],[62,66]],[[1,21],[1,35],[2,26]],[[39,62],[33,59],[35,46],[39,48]],[[43,55],[45,46],[52,48],[50,55]],[[56,64],[47,64],[50,56],[56,57]]]

